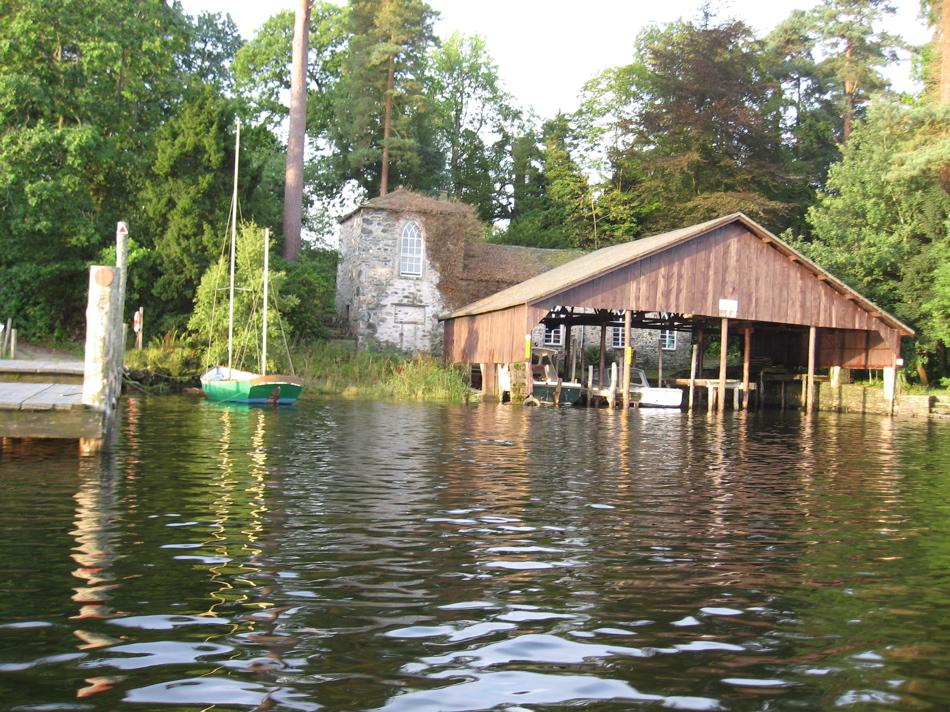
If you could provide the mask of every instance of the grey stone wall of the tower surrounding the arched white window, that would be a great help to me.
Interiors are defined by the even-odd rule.
[[[379,344],[441,354],[438,317],[445,306],[428,249],[421,276],[399,275],[400,239],[409,220],[419,224],[425,242],[425,220],[413,213],[363,208],[340,225],[336,309],[361,348]]]

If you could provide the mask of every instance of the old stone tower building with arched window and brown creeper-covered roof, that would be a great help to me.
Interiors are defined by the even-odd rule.
[[[340,220],[336,309],[357,345],[442,353],[438,317],[580,253],[495,245],[474,210],[402,188]]]

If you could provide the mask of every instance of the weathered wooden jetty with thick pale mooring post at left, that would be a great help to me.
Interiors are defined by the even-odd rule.
[[[0,360],[0,439],[74,439],[83,453],[111,447],[125,346],[125,223],[116,239],[118,265],[89,268],[84,361]]]

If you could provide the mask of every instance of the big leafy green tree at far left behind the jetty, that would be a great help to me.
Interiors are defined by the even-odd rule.
[[[81,324],[85,265],[114,244],[116,222],[131,221],[193,34],[164,3],[6,3],[0,13],[0,310],[25,336],[65,333]]]

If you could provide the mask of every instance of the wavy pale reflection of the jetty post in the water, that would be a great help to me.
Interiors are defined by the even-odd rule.
[[[76,519],[70,532],[76,540],[72,558],[79,564],[73,576],[84,585],[75,587],[72,600],[80,604],[73,620],[112,618],[123,615],[107,605],[114,582],[112,565],[120,555],[116,552],[119,538],[114,522],[119,519],[118,469],[112,456],[96,454],[79,459],[79,490]],[[114,638],[86,630],[76,630],[83,641],[80,649],[101,648],[119,642]]]

